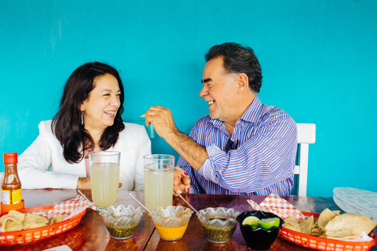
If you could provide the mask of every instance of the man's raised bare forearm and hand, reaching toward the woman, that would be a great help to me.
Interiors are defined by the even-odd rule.
[[[195,170],[198,171],[207,160],[208,154],[205,147],[200,146],[193,139],[179,132],[170,109],[159,105],[150,107],[145,116],[145,123],[147,126],[153,123],[158,135],[163,137]]]

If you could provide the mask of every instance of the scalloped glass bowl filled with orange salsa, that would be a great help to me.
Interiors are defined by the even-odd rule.
[[[149,215],[163,240],[176,241],[184,235],[192,213],[184,206],[166,206],[154,208]]]

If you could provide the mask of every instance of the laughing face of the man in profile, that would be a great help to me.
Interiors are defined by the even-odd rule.
[[[211,59],[203,70],[204,84],[199,96],[208,103],[209,116],[212,119],[228,122],[237,109],[237,74],[226,73],[223,56]]]

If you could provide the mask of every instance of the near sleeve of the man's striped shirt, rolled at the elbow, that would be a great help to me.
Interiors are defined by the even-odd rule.
[[[232,192],[254,192],[291,178],[296,130],[293,119],[276,116],[235,150],[207,146],[209,158],[198,173]]]

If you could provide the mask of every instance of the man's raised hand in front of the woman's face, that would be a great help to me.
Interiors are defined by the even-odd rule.
[[[160,137],[166,139],[172,132],[178,132],[175,126],[170,109],[156,105],[150,107],[145,114],[145,124],[150,126],[153,123],[154,130]]]

